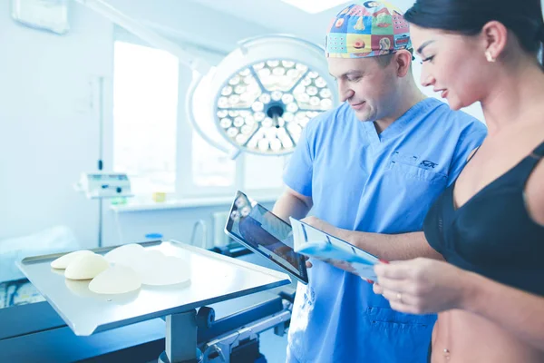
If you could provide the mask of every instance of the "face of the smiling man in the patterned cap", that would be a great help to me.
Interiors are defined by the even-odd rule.
[[[394,60],[386,66],[374,57],[328,58],[329,73],[335,78],[342,102],[347,102],[360,121],[389,116],[397,102],[398,77]]]

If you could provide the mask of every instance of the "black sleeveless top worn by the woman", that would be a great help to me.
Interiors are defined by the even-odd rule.
[[[423,224],[432,248],[463,270],[544,296],[544,226],[530,218],[524,193],[543,157],[544,142],[457,210],[453,183]]]

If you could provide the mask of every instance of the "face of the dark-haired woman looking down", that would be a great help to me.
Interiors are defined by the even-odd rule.
[[[432,86],[452,110],[481,101],[491,85],[481,38],[410,25],[413,48],[423,61],[421,83]]]

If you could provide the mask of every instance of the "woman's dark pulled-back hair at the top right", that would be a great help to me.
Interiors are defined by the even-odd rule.
[[[540,0],[416,0],[404,14],[413,25],[465,35],[480,34],[483,25],[496,20],[518,38],[530,54],[544,43]]]

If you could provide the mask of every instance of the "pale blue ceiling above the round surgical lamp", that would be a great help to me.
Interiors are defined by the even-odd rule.
[[[222,54],[228,54],[241,39],[262,34],[292,34],[323,45],[327,25],[346,5],[355,2],[308,14],[281,0],[105,1],[166,38]],[[390,1],[406,10],[414,0]]]

